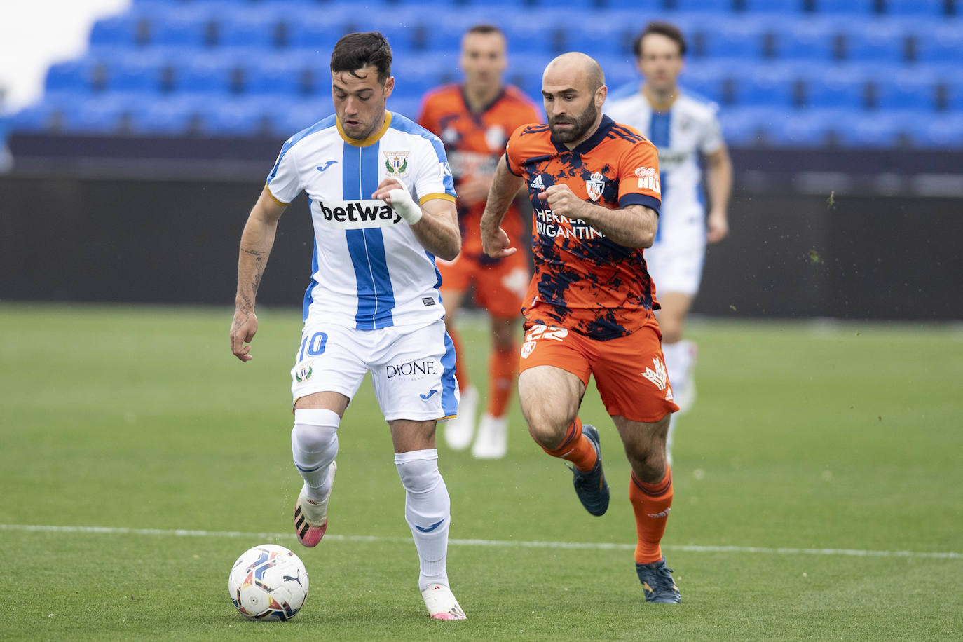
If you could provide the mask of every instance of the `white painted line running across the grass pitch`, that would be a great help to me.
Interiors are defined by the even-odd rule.
[[[294,539],[291,533],[245,532],[241,530],[186,530],[183,528],[122,528],[113,526],[42,526],[31,524],[0,524],[0,530],[20,530],[58,533],[101,533],[106,535],[159,535],[167,537],[220,537],[243,539]],[[386,542],[404,543],[406,537],[378,537],[376,535],[325,535],[325,542]],[[528,542],[523,540],[450,539],[452,546],[481,546],[493,548],[522,549],[590,549],[595,551],[634,551],[635,544],[612,544],[608,542]],[[936,559],[963,559],[961,552],[920,551],[862,551],[858,549],[794,549],[759,546],[697,546],[665,544],[666,551],[682,552],[744,552],[778,555],[848,555],[852,557],[928,557]]]

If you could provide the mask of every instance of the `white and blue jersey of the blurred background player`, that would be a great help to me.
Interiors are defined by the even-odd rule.
[[[638,85],[631,94],[615,90],[606,106],[612,119],[632,125],[659,149],[662,183],[660,227],[669,224],[674,213],[705,214],[700,157],[714,154],[722,146],[716,103],[680,91],[667,112],[655,112]],[[685,213],[683,215],[683,213]],[[704,221],[703,221],[704,222]]]

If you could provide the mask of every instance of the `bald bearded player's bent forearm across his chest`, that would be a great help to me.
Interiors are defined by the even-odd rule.
[[[651,247],[655,241],[659,215],[652,208],[629,205],[610,210],[582,200],[564,183],[550,186],[538,197],[548,203],[554,214],[582,218],[613,243],[626,247]]]

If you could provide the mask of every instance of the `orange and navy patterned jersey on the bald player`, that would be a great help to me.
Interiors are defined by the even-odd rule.
[[[534,276],[522,314],[592,339],[623,337],[655,324],[656,289],[640,248],[613,243],[581,218],[554,214],[538,198],[564,183],[583,200],[610,209],[662,205],[656,147],[638,130],[602,117],[575,149],[553,141],[548,125],[518,128],[508,140],[508,169],[532,199]]]

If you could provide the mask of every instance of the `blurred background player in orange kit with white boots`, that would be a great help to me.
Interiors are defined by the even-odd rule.
[[[455,372],[461,390],[458,416],[445,425],[445,440],[452,449],[468,448],[475,433],[479,393],[471,384],[455,331],[457,311],[473,283],[478,302],[491,315],[488,404],[472,448],[472,453],[481,458],[502,457],[508,448],[508,400],[518,369],[517,318],[529,281],[529,262],[524,254],[490,258],[485,256],[479,236],[484,199],[508,135],[519,125],[539,119],[537,109],[522,90],[503,84],[507,64],[506,39],[501,30],[491,25],[472,27],[461,40],[464,83],[430,91],[418,118],[419,124],[445,143],[455,176],[463,240],[455,261],[438,261],[445,321],[455,342]],[[514,204],[509,203],[508,210],[505,227],[517,243],[523,233],[522,218]]]

